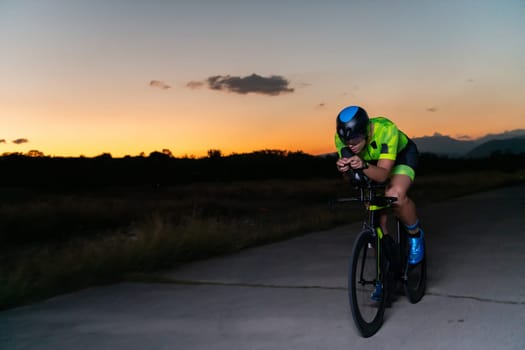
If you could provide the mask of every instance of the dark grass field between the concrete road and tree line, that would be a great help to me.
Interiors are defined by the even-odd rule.
[[[418,205],[525,181],[525,172],[416,180]],[[0,190],[0,309],[361,219],[342,179]]]

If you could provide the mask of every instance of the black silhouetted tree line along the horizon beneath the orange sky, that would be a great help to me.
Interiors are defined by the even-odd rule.
[[[114,158],[109,153],[88,157],[51,157],[41,152],[0,157],[1,186],[176,185],[199,181],[307,179],[338,176],[336,154],[314,156],[302,151],[260,150],[224,156],[209,150],[206,157],[174,157],[169,150],[148,156]],[[478,170],[516,171],[525,154],[494,152],[481,159],[421,154],[418,174]]]

